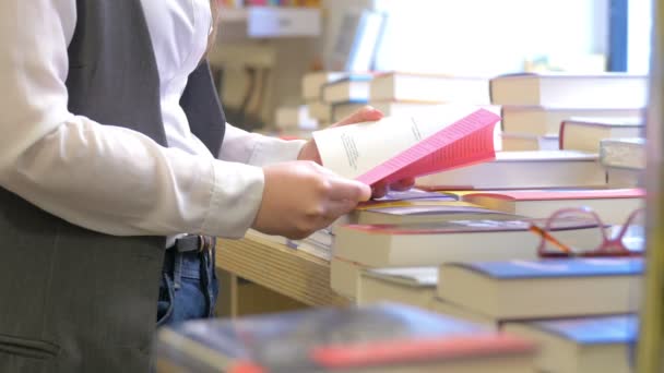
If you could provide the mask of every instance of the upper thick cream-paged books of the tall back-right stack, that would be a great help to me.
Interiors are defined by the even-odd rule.
[[[624,73],[496,76],[490,81],[490,95],[491,104],[502,108],[502,149],[557,149],[560,124],[573,117],[639,120],[645,106],[645,76]],[[589,148],[596,146],[583,149]]]

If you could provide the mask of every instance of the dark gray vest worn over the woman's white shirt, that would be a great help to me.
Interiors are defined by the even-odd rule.
[[[79,0],[69,109],[166,145],[140,0]],[[202,63],[181,99],[213,154],[225,118]],[[165,239],[71,225],[0,188],[0,372],[146,372]]]

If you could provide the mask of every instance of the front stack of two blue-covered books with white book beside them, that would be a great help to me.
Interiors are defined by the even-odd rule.
[[[642,258],[361,270],[358,303],[394,301],[536,341],[543,372],[629,372]]]

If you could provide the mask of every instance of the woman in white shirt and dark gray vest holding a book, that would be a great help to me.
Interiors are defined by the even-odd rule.
[[[147,371],[155,313],[212,314],[212,237],[301,238],[369,198],[313,142],[225,123],[211,5],[0,2],[1,372]]]

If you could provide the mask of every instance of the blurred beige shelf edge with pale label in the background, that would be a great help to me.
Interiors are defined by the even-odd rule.
[[[220,13],[223,39],[317,37],[321,34],[318,8],[224,8]]]

